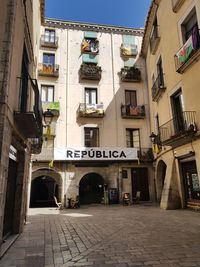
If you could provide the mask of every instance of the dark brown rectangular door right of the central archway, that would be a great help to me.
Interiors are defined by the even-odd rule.
[[[147,168],[132,168],[132,197],[136,197],[136,192],[140,191],[140,200],[149,201],[149,180]]]

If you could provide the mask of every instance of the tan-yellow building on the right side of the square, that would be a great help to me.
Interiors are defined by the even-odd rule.
[[[146,60],[156,191],[165,209],[200,206],[200,2],[152,1]]]

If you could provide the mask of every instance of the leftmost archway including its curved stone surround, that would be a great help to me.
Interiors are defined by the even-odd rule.
[[[32,174],[30,207],[54,207],[61,201],[62,179],[54,170],[39,169]]]

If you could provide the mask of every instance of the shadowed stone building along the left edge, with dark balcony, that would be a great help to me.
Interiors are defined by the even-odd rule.
[[[43,9],[43,0],[0,3],[0,256],[8,236],[23,229],[30,155],[42,145],[36,63]]]

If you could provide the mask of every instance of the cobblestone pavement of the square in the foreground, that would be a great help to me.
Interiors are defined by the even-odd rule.
[[[31,209],[0,267],[200,267],[200,213],[155,206]]]

